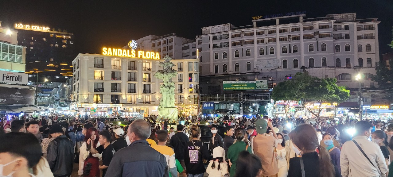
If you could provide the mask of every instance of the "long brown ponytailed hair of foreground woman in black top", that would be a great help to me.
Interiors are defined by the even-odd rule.
[[[291,132],[291,139],[300,150],[314,151],[319,150],[319,170],[321,177],[333,177],[335,174],[334,166],[331,162],[329,152],[318,141],[318,135],[314,127],[310,124],[301,124]]]

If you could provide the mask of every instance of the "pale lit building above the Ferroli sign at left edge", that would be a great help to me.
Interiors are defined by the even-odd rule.
[[[25,71],[26,47],[17,44],[17,35],[17,30],[3,27],[0,22],[0,71]]]

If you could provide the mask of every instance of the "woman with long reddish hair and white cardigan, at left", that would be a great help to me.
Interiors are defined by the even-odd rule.
[[[79,170],[78,175],[84,177],[99,177],[99,159],[102,154],[92,154],[91,149],[97,148],[101,144],[98,142],[99,134],[94,127],[89,128],[83,139],[83,144],[79,148]],[[95,152],[95,151],[94,151]],[[89,170],[90,169],[90,170]]]

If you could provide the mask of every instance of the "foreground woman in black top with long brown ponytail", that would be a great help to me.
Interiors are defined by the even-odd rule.
[[[301,124],[290,133],[290,139],[301,157],[289,160],[288,177],[341,177],[327,149],[320,145],[314,127]]]

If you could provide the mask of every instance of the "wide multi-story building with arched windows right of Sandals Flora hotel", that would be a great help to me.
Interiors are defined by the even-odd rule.
[[[201,93],[224,93],[223,80],[268,80],[272,88],[303,70],[320,78],[337,78],[338,85],[350,89],[359,88],[355,76],[360,73],[362,86],[376,86],[371,77],[379,61],[377,18],[356,19],[356,13],[303,16],[252,20],[253,25],[244,27],[203,27],[196,38]],[[290,18],[299,22],[280,24]],[[269,20],[275,25],[258,26]]]

